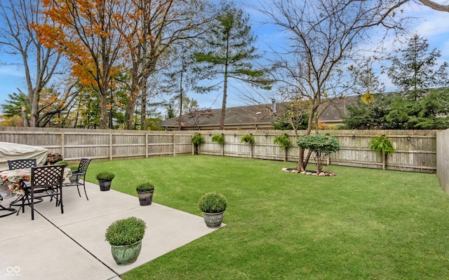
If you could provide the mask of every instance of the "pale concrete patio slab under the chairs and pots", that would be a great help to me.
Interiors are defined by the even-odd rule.
[[[213,232],[203,218],[153,202],[140,207],[137,197],[115,190],[100,192],[86,182],[81,190],[64,188],[64,214],[54,202],[35,205],[25,213],[0,218],[0,279],[120,279],[120,275]],[[155,192],[157,195],[157,190]],[[12,200],[5,200],[6,207]],[[142,251],[132,265],[116,265],[105,241],[114,221],[135,216],[147,223]]]

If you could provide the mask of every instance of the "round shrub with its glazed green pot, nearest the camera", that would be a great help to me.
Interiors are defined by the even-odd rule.
[[[130,265],[138,259],[147,225],[140,218],[129,217],[115,221],[106,230],[112,258],[117,265]]]

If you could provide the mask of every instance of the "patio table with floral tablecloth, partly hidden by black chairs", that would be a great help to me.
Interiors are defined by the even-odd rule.
[[[64,169],[63,179],[65,180],[72,174],[72,170],[69,168]],[[24,169],[12,169],[0,172],[0,201],[17,196],[18,198],[25,195],[25,191],[22,188],[22,181],[31,180],[31,168]],[[13,204],[13,203],[11,203]],[[0,205],[0,209],[10,211],[13,214],[15,209],[5,208]],[[10,214],[4,215],[8,216]],[[2,216],[0,216],[2,217]]]

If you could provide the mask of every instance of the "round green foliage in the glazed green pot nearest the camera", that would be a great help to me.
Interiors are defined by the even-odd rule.
[[[140,218],[130,217],[115,221],[106,230],[106,241],[114,246],[125,246],[143,239],[147,225]]]

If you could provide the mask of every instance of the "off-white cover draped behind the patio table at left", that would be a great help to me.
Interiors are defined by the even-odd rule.
[[[9,169],[8,160],[35,158],[37,165],[44,165],[47,160],[47,154],[48,149],[46,148],[0,142],[0,171]]]

